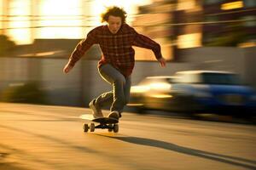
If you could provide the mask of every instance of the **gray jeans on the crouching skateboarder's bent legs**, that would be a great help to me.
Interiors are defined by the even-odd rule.
[[[110,106],[110,111],[119,111],[121,113],[124,106],[128,103],[131,89],[131,76],[124,77],[112,65],[106,64],[99,68],[101,77],[113,87],[113,90],[101,94],[96,99],[96,105],[101,108]]]

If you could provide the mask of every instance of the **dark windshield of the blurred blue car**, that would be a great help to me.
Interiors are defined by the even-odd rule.
[[[218,74],[218,73],[203,73],[201,76],[201,83],[206,84],[227,84],[238,85],[241,84],[240,78],[236,74]]]

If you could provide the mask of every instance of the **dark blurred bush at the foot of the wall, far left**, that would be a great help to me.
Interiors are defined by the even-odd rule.
[[[3,102],[46,104],[46,93],[39,88],[37,82],[11,86],[3,90],[0,95]]]

